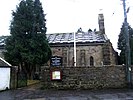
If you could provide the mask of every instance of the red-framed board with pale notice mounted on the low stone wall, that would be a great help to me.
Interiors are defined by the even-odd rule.
[[[60,70],[51,71],[51,80],[61,80],[62,75]]]

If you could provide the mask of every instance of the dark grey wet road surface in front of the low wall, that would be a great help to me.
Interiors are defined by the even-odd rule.
[[[2,91],[0,100],[133,100],[133,90],[41,90],[34,85]]]

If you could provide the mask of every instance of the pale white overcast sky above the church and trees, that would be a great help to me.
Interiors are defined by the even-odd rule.
[[[10,35],[12,10],[21,0],[2,0],[0,3],[0,36]],[[104,14],[105,32],[117,50],[118,35],[123,23],[121,0],[40,0],[46,14],[47,33],[76,32],[78,28],[99,30],[98,14]],[[128,23],[133,27],[133,0],[126,0]],[[101,10],[102,9],[102,10]],[[118,50],[117,50],[118,51]]]

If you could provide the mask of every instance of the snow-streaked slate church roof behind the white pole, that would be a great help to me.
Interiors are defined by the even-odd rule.
[[[47,34],[49,43],[71,43],[74,42],[74,33],[53,33]],[[106,42],[108,40],[106,34],[99,32],[76,32],[76,42]]]

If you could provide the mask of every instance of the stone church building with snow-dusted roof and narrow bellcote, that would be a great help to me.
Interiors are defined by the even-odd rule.
[[[105,34],[104,16],[98,15],[99,31],[79,28],[75,32],[76,65],[101,66],[116,64],[116,53]],[[62,66],[74,66],[74,32],[47,34],[53,56],[62,57]]]

